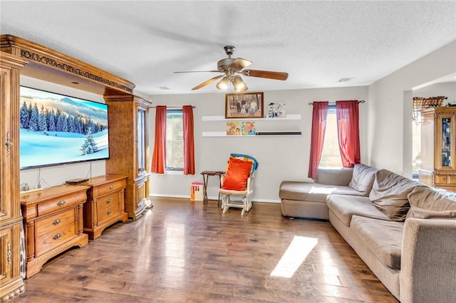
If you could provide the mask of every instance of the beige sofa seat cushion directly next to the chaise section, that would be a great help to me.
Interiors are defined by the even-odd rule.
[[[389,220],[388,216],[379,211],[365,196],[329,195],[326,205],[347,226],[350,225],[353,215]]]

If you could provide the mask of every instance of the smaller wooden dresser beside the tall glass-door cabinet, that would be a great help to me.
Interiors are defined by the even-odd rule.
[[[127,176],[97,176],[81,185],[90,186],[83,208],[84,233],[90,240],[100,237],[108,226],[128,220],[125,212]]]

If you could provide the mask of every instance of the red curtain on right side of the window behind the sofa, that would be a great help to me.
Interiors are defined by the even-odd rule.
[[[336,101],[336,117],[342,166],[353,167],[361,162],[358,100]]]

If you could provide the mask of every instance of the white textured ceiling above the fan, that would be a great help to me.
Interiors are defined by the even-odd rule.
[[[173,72],[216,70],[226,45],[253,61],[249,69],[289,73],[243,76],[254,91],[369,85],[456,40],[456,1],[1,0],[0,13],[1,33],[119,75],[145,95],[192,92],[219,74]],[[215,84],[195,92],[217,92]]]

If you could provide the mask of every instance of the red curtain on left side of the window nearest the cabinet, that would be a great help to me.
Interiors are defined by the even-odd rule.
[[[166,171],[166,106],[158,105],[155,111],[155,144],[152,155],[152,172]]]

